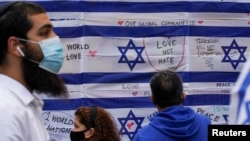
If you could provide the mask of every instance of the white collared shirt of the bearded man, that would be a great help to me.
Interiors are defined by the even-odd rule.
[[[41,118],[43,101],[19,82],[0,74],[0,140],[49,141]]]

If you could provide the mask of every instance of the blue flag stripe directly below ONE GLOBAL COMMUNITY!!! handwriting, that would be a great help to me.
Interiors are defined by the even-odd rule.
[[[246,22],[247,26],[247,22]],[[62,38],[82,36],[104,37],[167,37],[167,36],[211,36],[211,37],[250,37],[249,27],[222,26],[79,26],[55,27]]]

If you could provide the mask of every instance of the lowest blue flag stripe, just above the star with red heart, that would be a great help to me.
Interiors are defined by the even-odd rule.
[[[196,94],[187,95],[184,106],[228,105],[229,95]],[[104,108],[152,108],[155,107],[149,97],[127,98],[79,98],[45,99],[43,110],[75,110],[79,106],[96,105]]]

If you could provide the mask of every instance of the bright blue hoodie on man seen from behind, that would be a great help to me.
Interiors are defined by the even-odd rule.
[[[184,106],[158,112],[142,127],[133,141],[207,141],[211,120]]]

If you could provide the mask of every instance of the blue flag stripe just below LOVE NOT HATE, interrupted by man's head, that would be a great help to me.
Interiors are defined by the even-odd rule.
[[[183,82],[235,82],[239,72],[178,72]],[[60,74],[66,84],[148,83],[151,73],[74,73]]]

